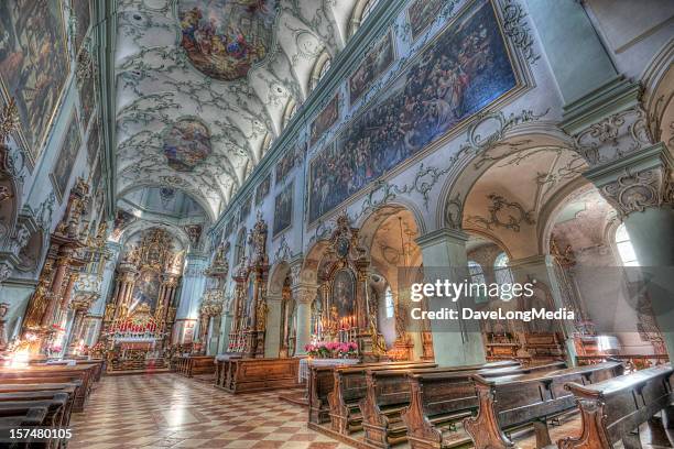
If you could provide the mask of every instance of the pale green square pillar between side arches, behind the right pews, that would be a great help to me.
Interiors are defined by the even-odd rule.
[[[421,236],[416,243],[422,250],[426,283],[464,283],[468,278],[466,241],[468,236],[460,230],[443,228]],[[418,304],[418,303],[417,303]],[[460,306],[471,305],[461,299]],[[412,305],[415,307],[415,304]],[[445,298],[430,298],[428,310],[442,307],[459,310],[459,303]],[[460,311],[459,311],[460,315]],[[421,328],[421,320],[413,320]],[[456,366],[485,362],[485,346],[478,322],[474,320],[431,320],[435,361],[441,366]]]

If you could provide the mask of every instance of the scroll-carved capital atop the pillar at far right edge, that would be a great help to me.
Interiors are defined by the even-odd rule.
[[[674,157],[663,142],[591,168],[591,180],[622,219],[632,212],[674,204]]]

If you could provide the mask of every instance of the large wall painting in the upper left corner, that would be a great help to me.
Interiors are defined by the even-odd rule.
[[[0,84],[17,100],[21,136],[33,162],[69,72],[61,1],[0,1]]]

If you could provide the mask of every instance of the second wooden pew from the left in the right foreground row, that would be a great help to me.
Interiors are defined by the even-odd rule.
[[[414,368],[435,368],[435,363],[410,362],[395,366],[399,370]],[[367,393],[366,373],[367,370],[390,370],[390,365],[357,365],[340,366],[333,370],[334,386],[328,394],[330,407],[330,427],[333,430],[343,435],[348,435],[359,430],[362,425],[362,414],[360,413],[360,401]]]

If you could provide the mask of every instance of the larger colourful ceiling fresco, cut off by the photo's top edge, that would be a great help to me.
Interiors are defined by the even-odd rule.
[[[278,0],[180,0],[181,45],[205,75],[232,81],[267,56]]]

